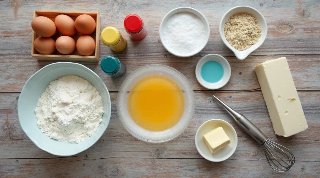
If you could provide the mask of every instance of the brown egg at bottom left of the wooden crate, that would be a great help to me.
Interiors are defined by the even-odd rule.
[[[55,41],[49,37],[38,37],[33,42],[33,47],[41,54],[52,54],[56,50]]]

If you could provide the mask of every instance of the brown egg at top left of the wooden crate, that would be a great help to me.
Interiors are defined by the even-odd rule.
[[[31,22],[32,30],[43,37],[51,37],[56,32],[56,25],[50,18],[39,16]]]

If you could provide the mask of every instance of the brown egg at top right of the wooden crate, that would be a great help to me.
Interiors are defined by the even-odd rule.
[[[91,16],[83,14],[76,18],[75,26],[79,33],[90,35],[96,29],[96,22]]]

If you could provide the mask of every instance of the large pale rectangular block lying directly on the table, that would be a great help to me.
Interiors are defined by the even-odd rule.
[[[265,61],[254,68],[275,133],[290,137],[308,129],[287,58]]]

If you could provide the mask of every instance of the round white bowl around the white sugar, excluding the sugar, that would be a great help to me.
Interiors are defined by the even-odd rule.
[[[189,53],[179,53],[177,51],[175,51],[174,49],[170,48],[168,46],[168,44],[166,43],[166,41],[164,41],[164,25],[167,22],[167,20],[174,14],[180,13],[180,12],[188,12],[191,14],[196,15],[198,18],[200,18],[200,20],[202,21],[202,23],[204,24],[204,29],[205,29],[205,36],[204,36],[204,40],[201,43],[201,45],[199,45],[195,50],[190,51]],[[177,32],[178,33],[178,32]],[[159,35],[160,35],[160,40],[162,45],[164,46],[164,48],[171,54],[178,56],[178,57],[190,57],[193,56],[197,53],[199,53],[204,46],[207,45],[207,42],[209,40],[209,36],[210,36],[210,27],[209,27],[209,23],[207,21],[207,19],[204,17],[204,15],[202,15],[202,13],[200,13],[199,11],[197,11],[196,9],[190,8],[190,7],[179,7],[176,9],[173,9],[172,11],[168,12],[164,18],[161,21],[160,24],[160,28],[159,28]]]

